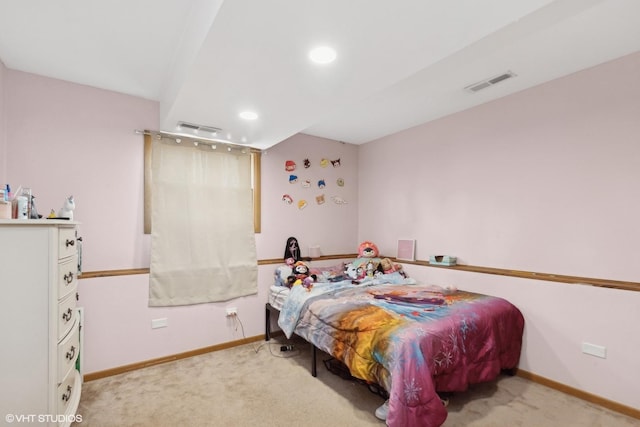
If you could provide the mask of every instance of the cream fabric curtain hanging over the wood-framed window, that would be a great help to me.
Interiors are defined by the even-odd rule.
[[[251,156],[153,141],[149,306],[258,292]]]

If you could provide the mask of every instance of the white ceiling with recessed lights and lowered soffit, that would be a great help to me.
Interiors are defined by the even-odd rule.
[[[308,60],[322,44],[334,63]],[[0,0],[7,68],[156,100],[159,130],[256,148],[365,143],[637,51],[639,0]]]

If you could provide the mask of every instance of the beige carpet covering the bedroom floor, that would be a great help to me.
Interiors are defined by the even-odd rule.
[[[304,341],[284,338],[208,353],[85,382],[78,427],[384,426],[383,403],[357,382],[310,374]],[[451,396],[447,427],[631,427],[640,421],[520,377],[503,376]]]

